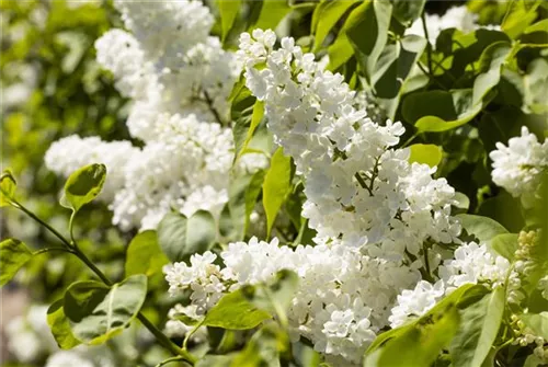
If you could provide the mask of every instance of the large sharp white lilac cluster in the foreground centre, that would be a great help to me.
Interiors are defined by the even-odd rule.
[[[165,278],[172,296],[192,290],[191,306],[203,316],[241,285],[292,269],[300,278],[288,310],[293,336],[357,364],[380,330],[424,313],[461,284],[496,286],[509,264],[476,243],[448,259],[434,243],[460,243],[450,216],[454,190],[395,149],[403,134],[399,123],[375,124],[356,110],[342,76],[323,71],[293,38],[283,38],[277,50],[275,42],[272,31],[255,30],[241,36],[238,55],[275,141],[305,180],[304,216],[319,233],[316,245],[293,249],[252,238],[230,243],[221,262],[206,252],[172,264]],[[444,274],[435,285],[421,279],[426,255],[431,276]]]

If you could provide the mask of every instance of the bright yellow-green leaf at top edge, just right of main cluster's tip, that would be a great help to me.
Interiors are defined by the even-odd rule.
[[[313,41],[313,51],[318,51],[323,41],[328,36],[329,32],[339,22],[341,16],[344,15],[350,8],[358,3],[357,0],[350,1],[338,1],[338,0],[327,0],[320,2],[312,14],[312,30],[311,33],[315,35]]]

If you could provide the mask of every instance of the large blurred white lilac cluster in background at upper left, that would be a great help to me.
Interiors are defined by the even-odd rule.
[[[96,41],[98,61],[133,100],[129,133],[145,142],[71,136],[55,142],[46,165],[65,176],[104,163],[101,198],[122,230],[155,229],[171,209],[217,216],[228,200],[233,139],[227,98],[240,67],[232,53],[208,36],[214,18],[201,1],[115,1],[128,31]],[[243,156],[238,169],[264,168],[262,154]]]

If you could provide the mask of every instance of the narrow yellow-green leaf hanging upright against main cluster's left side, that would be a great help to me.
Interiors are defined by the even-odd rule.
[[[272,226],[279,208],[292,192],[292,158],[284,156],[278,148],[272,156],[271,167],[264,176],[263,207],[266,213],[266,237],[270,238]]]

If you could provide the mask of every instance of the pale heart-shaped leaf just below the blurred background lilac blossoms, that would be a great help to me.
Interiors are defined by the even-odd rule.
[[[172,262],[209,250],[217,238],[217,226],[210,213],[198,210],[186,218],[169,213],[158,225],[158,242]]]

